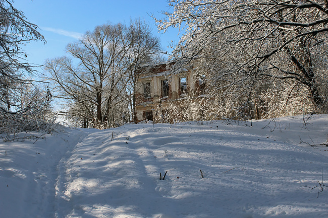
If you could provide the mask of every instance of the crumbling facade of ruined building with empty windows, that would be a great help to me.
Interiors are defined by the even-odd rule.
[[[193,65],[173,74],[174,63],[161,63],[141,67],[137,71],[136,112],[137,122],[174,122],[181,120],[188,110],[187,101],[195,99],[201,104],[205,96],[205,83],[193,74]],[[197,111],[201,113],[201,111]]]

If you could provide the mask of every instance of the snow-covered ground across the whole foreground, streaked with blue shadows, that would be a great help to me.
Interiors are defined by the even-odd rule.
[[[328,116],[269,121],[1,141],[0,217],[328,217]]]

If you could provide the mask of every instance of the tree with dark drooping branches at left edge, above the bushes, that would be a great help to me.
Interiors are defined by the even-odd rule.
[[[27,54],[22,46],[29,41],[43,40],[37,26],[30,23],[23,12],[12,5],[11,0],[0,1],[0,109],[16,113],[15,103],[8,98],[21,84],[30,83],[28,75],[33,68],[24,58]]]

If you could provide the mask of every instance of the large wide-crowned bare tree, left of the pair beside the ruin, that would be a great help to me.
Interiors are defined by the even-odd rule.
[[[67,100],[71,108],[65,113],[90,119],[96,128],[104,125],[114,106],[113,99],[123,92],[117,89],[118,85],[127,83],[121,66],[127,43],[124,25],[105,24],[67,45],[67,52],[73,58],[46,61],[46,70],[52,76],[49,80],[54,82],[54,91],[59,93],[57,97]]]

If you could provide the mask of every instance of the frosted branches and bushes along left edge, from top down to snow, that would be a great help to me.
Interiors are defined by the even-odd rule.
[[[30,79],[34,69],[22,48],[44,38],[12,3],[0,0],[0,134],[43,130],[53,121],[50,95]]]

